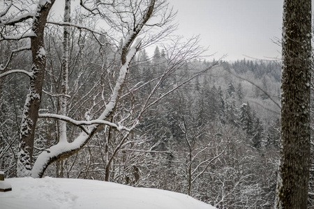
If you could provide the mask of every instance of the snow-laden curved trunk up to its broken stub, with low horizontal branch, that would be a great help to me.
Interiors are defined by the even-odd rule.
[[[89,125],[90,127],[88,130],[84,128],[83,132],[81,132],[80,136],[77,137],[73,141],[73,143],[69,144],[67,141],[63,141],[62,143],[59,142],[59,144],[52,146],[50,150],[43,151],[42,153],[40,153],[40,155],[38,156],[38,159],[33,165],[31,176],[36,177],[36,178],[41,177],[43,176],[43,173],[45,172],[45,169],[47,169],[47,166],[49,164],[58,160],[65,159],[67,157],[70,157],[74,153],[77,153],[78,150],[80,150],[81,148],[85,146],[85,144],[87,144],[87,142],[91,139],[91,137],[93,137],[94,134],[100,129],[100,127],[102,127],[102,125],[112,125],[112,127],[116,127],[117,130],[129,130],[128,132],[126,132],[126,134],[124,134],[124,140],[122,140],[121,144],[119,144],[119,146],[117,147],[116,153],[118,152],[119,148],[121,148],[124,141],[127,139],[128,135],[130,134],[130,130],[133,130],[135,125],[137,125],[137,121],[135,121],[132,127],[127,129],[126,127],[109,123],[105,121],[105,119],[107,119],[110,116],[110,114],[112,114],[112,112],[114,111],[114,108],[117,106],[117,100],[119,98],[119,95],[122,91],[122,87],[126,80],[126,75],[128,73],[130,62],[132,61],[138,49],[140,48],[140,43],[141,43],[141,39],[139,38],[137,39],[135,44],[132,47],[130,47],[128,54],[126,54],[126,62],[124,62],[120,67],[119,77],[114,86],[114,90],[110,97],[110,101],[107,102],[107,104],[105,105],[105,110],[98,117],[98,119],[91,122],[75,121],[72,118],[68,118],[66,116],[58,116],[58,115],[53,115],[53,114],[39,114],[40,117],[54,116],[55,118],[59,120],[68,121],[69,123],[73,123],[74,125],[80,125],[81,128],[84,128],[84,125]]]

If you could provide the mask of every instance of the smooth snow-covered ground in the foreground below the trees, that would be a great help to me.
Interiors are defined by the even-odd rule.
[[[214,209],[192,197],[161,189],[135,188],[98,180],[8,178],[1,209]]]

